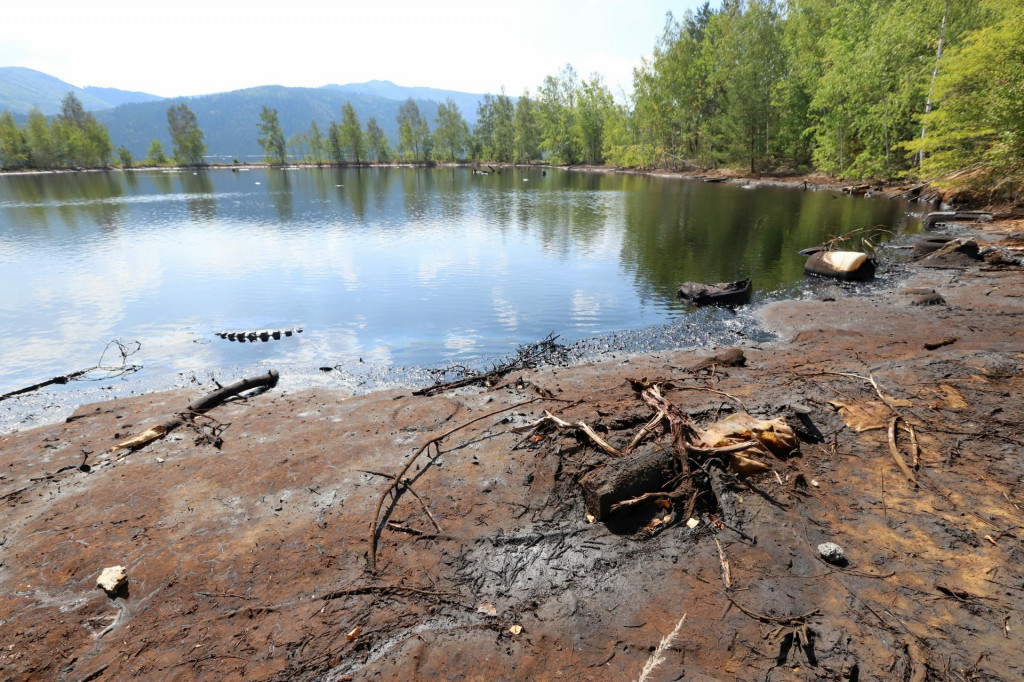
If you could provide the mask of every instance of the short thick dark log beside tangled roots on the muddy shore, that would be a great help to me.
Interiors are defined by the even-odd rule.
[[[596,519],[606,519],[612,505],[646,493],[670,491],[682,473],[674,447],[647,443],[613,465],[584,474],[580,478],[584,505]]]

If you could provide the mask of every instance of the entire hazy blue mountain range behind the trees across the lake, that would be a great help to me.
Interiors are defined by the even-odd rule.
[[[85,110],[93,112],[106,126],[115,146],[127,147],[139,160],[145,157],[154,139],[159,139],[170,153],[167,108],[185,102],[196,114],[212,162],[263,158],[263,151],[256,141],[263,106],[278,110],[281,127],[290,138],[297,132],[307,132],[312,121],[326,136],[331,121],[340,122],[342,106],[351,102],[364,127],[371,117],[376,118],[393,143],[398,136],[395,121],[398,108],[410,97],[416,100],[420,114],[431,126],[438,103],[451,97],[470,127],[476,122],[477,103],[483,97],[482,94],[404,87],[375,80],[318,88],[267,85],[196,97],[164,98],[117,88],[83,88],[31,69],[0,67],[0,112],[9,111],[20,122],[33,106],[46,115],[56,114],[60,111],[60,100],[69,92],[74,92]]]

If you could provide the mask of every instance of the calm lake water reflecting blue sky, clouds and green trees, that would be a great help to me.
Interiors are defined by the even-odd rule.
[[[800,249],[916,229],[907,212],[553,169],[2,175],[0,393],[95,365],[112,339],[139,342],[133,381],[163,386],[269,368],[479,367],[552,332],[726,319],[677,301],[679,284],[752,276],[756,300],[788,295]],[[266,343],[215,336],[293,328]]]

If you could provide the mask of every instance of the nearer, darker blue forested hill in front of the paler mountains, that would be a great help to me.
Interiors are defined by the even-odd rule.
[[[171,148],[167,108],[184,102],[196,114],[211,161],[238,159],[249,162],[262,161],[264,157],[257,142],[259,115],[263,106],[278,110],[282,130],[291,137],[308,130],[311,121],[316,121],[321,130],[327,130],[331,121],[341,120],[341,109],[349,101],[364,125],[374,117],[389,138],[398,138],[395,117],[402,101],[333,88],[268,85],[201,97],[124,104],[96,112],[96,119],[108,127],[112,139],[128,147],[135,158],[141,159],[154,139],[159,139],[165,148]],[[437,102],[422,99],[417,103],[423,116],[433,121],[437,115]]]

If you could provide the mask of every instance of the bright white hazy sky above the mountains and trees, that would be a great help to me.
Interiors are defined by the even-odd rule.
[[[571,63],[631,90],[702,0],[7,0],[0,67],[164,97],[379,79],[508,94]],[[717,4],[717,3],[713,3]]]

